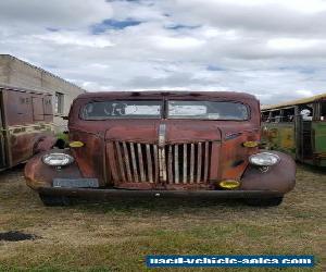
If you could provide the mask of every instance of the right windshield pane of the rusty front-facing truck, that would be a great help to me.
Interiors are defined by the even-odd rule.
[[[168,101],[170,119],[248,120],[247,106],[239,102]]]

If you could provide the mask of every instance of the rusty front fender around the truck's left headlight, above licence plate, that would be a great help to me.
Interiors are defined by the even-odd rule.
[[[62,169],[57,169],[53,166],[49,166],[42,162],[42,157],[46,153],[50,153],[53,151],[70,153],[68,149],[60,149],[60,150],[49,150],[46,152],[40,152],[34,156],[25,165],[24,175],[26,180],[26,184],[33,188],[38,189],[40,187],[52,187],[52,181],[54,177],[71,177],[71,178],[80,178],[83,177],[76,162],[64,166]]]

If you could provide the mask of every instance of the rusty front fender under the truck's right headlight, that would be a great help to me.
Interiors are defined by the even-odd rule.
[[[277,190],[281,194],[290,191],[296,185],[296,162],[283,152],[271,151],[280,158],[280,161],[266,172],[254,165],[249,165],[242,178],[240,189],[243,190]]]

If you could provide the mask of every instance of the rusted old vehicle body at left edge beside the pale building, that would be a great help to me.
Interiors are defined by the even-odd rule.
[[[51,95],[0,86],[0,97],[1,170],[54,146]]]

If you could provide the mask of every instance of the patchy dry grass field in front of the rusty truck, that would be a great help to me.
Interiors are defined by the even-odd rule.
[[[317,265],[309,271],[323,271],[326,173],[299,166],[297,180],[284,203],[268,209],[151,198],[47,208],[26,187],[22,170],[8,171],[0,174],[0,232],[37,238],[0,240],[0,270],[146,271],[149,254],[298,254],[315,255]]]

